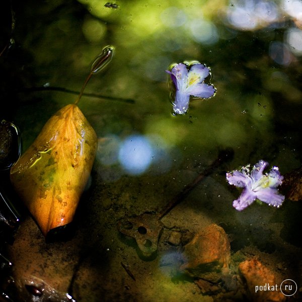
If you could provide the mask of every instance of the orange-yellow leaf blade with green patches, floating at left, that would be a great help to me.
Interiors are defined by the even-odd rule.
[[[12,167],[12,184],[44,236],[72,221],[96,150],[94,129],[77,105],[67,105],[46,122]]]

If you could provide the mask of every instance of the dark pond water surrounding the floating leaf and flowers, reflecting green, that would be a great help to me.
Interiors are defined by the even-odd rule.
[[[14,242],[0,251],[13,263],[17,290],[3,285],[10,300],[71,300],[68,292],[89,302],[240,301],[246,292],[238,264],[253,257],[279,284],[295,280],[298,290],[289,299],[298,300],[301,201],[286,197],[279,208],[254,202],[237,211],[232,203],[241,190],[225,173],[259,160],[281,175],[301,166],[301,11],[296,0],[12,1],[12,10],[4,7],[1,118],[19,127],[23,152],[52,115],[75,102],[93,59],[106,45],[115,48],[78,104],[96,131],[98,151],[71,235],[45,241],[19,205]],[[166,70],[184,61],[210,67],[216,93],[191,98],[187,113],[174,116]],[[156,253],[141,253],[119,232],[122,219],[159,213],[225,148],[233,157],[162,218]],[[229,276],[238,283],[224,280],[205,293],[200,278],[180,267],[186,243],[211,223],[228,235]],[[175,241],[179,234],[188,239]],[[26,284],[42,284],[50,298]]]

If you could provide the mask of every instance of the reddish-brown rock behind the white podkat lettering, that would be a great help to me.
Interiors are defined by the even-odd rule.
[[[247,295],[255,302],[283,302],[274,273],[257,259],[248,259],[239,264],[239,274],[245,284]]]

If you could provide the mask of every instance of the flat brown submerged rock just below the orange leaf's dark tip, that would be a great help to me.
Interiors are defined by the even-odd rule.
[[[46,243],[35,221],[30,216],[23,217],[13,245],[8,245],[13,263],[14,300],[70,301],[66,293],[79,263],[79,246],[84,242],[81,237]],[[43,296],[37,296],[39,292],[43,292]]]

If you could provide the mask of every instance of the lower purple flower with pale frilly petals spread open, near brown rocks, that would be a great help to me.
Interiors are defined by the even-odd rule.
[[[250,165],[243,167],[241,171],[235,170],[226,173],[226,180],[230,185],[244,188],[238,199],[233,201],[233,206],[242,211],[247,206],[259,199],[269,205],[279,207],[284,196],[278,193],[277,187],[281,185],[283,176],[277,167],[273,167],[269,173],[263,174],[268,166],[265,161],[259,161],[250,171]]]

